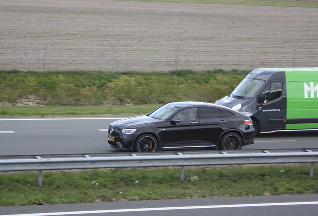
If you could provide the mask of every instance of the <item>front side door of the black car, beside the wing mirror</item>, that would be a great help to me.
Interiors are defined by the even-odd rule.
[[[195,114],[190,113],[191,111],[194,111]],[[183,109],[181,113],[176,113],[172,118],[180,119],[180,122],[167,122],[165,130],[160,132],[161,145],[177,147],[177,145],[189,146],[197,143],[199,130],[197,113],[197,107]]]

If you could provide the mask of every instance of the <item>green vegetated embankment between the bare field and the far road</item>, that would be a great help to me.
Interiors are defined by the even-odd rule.
[[[139,115],[176,101],[215,102],[250,71],[0,71],[0,116]]]

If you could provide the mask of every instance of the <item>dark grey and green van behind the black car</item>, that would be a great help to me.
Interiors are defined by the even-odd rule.
[[[318,130],[318,67],[255,69],[215,104],[252,113],[255,134]]]

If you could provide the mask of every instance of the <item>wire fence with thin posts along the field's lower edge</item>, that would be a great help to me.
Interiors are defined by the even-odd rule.
[[[145,48],[127,49],[109,47],[108,50],[56,50],[50,48],[25,50],[24,55],[3,55],[2,70],[34,71],[206,71],[253,70],[262,67],[316,67],[318,49],[290,49],[288,52],[271,53],[266,49],[251,52],[244,48],[227,52],[206,48],[193,52],[190,48],[176,47],[168,50]]]

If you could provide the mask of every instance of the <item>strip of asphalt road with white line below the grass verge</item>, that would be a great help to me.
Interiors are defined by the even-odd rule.
[[[0,215],[316,216],[318,195],[222,197],[0,207]]]

